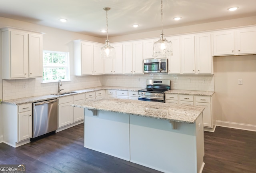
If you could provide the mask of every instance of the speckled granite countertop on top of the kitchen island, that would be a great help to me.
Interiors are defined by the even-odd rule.
[[[130,115],[164,119],[189,124],[193,124],[205,109],[204,107],[200,106],[177,105],[171,103],[116,98],[98,98],[95,100],[72,104],[71,106],[126,113]]]

